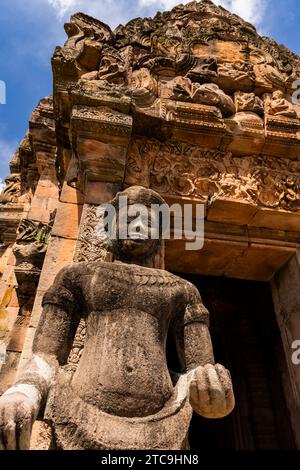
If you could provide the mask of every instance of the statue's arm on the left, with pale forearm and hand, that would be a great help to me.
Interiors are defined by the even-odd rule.
[[[67,362],[80,321],[77,293],[62,270],[44,296],[33,356],[0,398],[0,450],[27,450],[32,426],[59,365]]]

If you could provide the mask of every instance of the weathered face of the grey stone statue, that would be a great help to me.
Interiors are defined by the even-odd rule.
[[[128,205],[128,214],[126,221],[128,238],[122,239],[119,234],[120,213],[117,213],[117,248],[119,254],[127,259],[144,259],[152,256],[159,248],[160,240],[151,239],[151,223],[154,214],[151,214],[150,208],[147,209],[148,217],[136,217],[130,215],[130,204]]]

